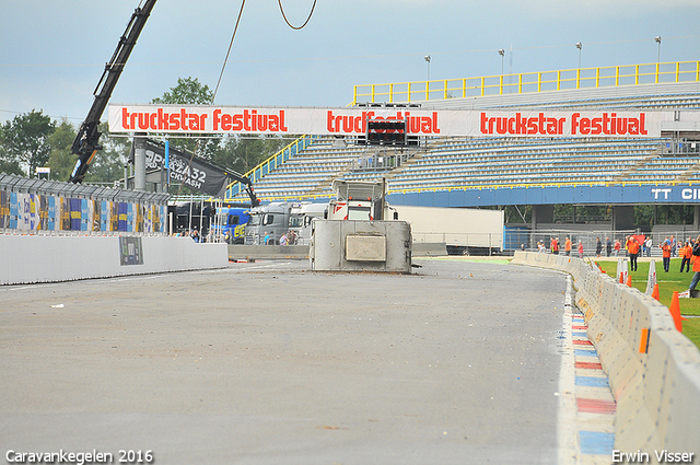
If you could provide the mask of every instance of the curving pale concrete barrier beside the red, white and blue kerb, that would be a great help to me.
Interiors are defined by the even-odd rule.
[[[676,330],[668,309],[579,258],[517,252],[512,263],[572,275],[576,304],[617,402],[615,449],[648,453],[651,463],[663,451],[693,453],[697,461],[700,350]],[[646,332],[649,344],[641,347]]]

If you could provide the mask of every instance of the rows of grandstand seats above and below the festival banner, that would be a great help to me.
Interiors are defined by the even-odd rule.
[[[678,91],[673,91],[678,89]],[[614,94],[600,90],[489,96],[470,100],[482,108],[700,108],[698,85],[634,86]],[[630,94],[631,92],[631,94]],[[545,100],[544,100],[545,98]],[[433,108],[457,108],[460,98],[430,102]],[[462,102],[464,105],[465,102]],[[256,183],[261,199],[331,196],[332,179],[375,181],[385,177],[389,191],[448,188],[512,187],[515,185],[625,184],[700,181],[700,142],[674,154],[673,141],[657,139],[582,138],[434,138],[412,149],[409,160],[392,167],[365,166],[372,158],[363,146],[338,147],[319,137],[306,149]],[[351,141],[350,141],[351,142]],[[370,149],[371,150],[371,149]],[[678,150],[676,150],[678,152]],[[375,155],[376,156],[376,155]]]

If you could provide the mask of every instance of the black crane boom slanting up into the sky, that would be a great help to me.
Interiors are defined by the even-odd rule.
[[[81,183],[83,181],[92,159],[97,150],[102,149],[100,146],[100,136],[102,133],[97,130],[100,118],[107,107],[112,92],[117,85],[121,71],[129,59],[129,55],[131,55],[131,50],[133,50],[145,21],[151,14],[151,10],[153,10],[153,5],[155,5],[155,1],[145,0],[143,7],[135,10],[124,35],[119,38],[119,45],[117,45],[112,59],[105,65],[105,70],[93,93],[95,100],[71,147],[72,153],[78,155],[75,167],[69,179],[71,183]]]

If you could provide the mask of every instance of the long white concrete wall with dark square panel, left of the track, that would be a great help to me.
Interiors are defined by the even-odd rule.
[[[229,266],[225,244],[167,236],[0,235],[0,284]]]

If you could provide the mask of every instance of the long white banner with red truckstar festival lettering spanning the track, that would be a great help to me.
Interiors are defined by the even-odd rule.
[[[673,112],[109,105],[110,132],[361,136],[370,119],[398,119],[413,136],[661,137],[662,121],[673,118]]]

